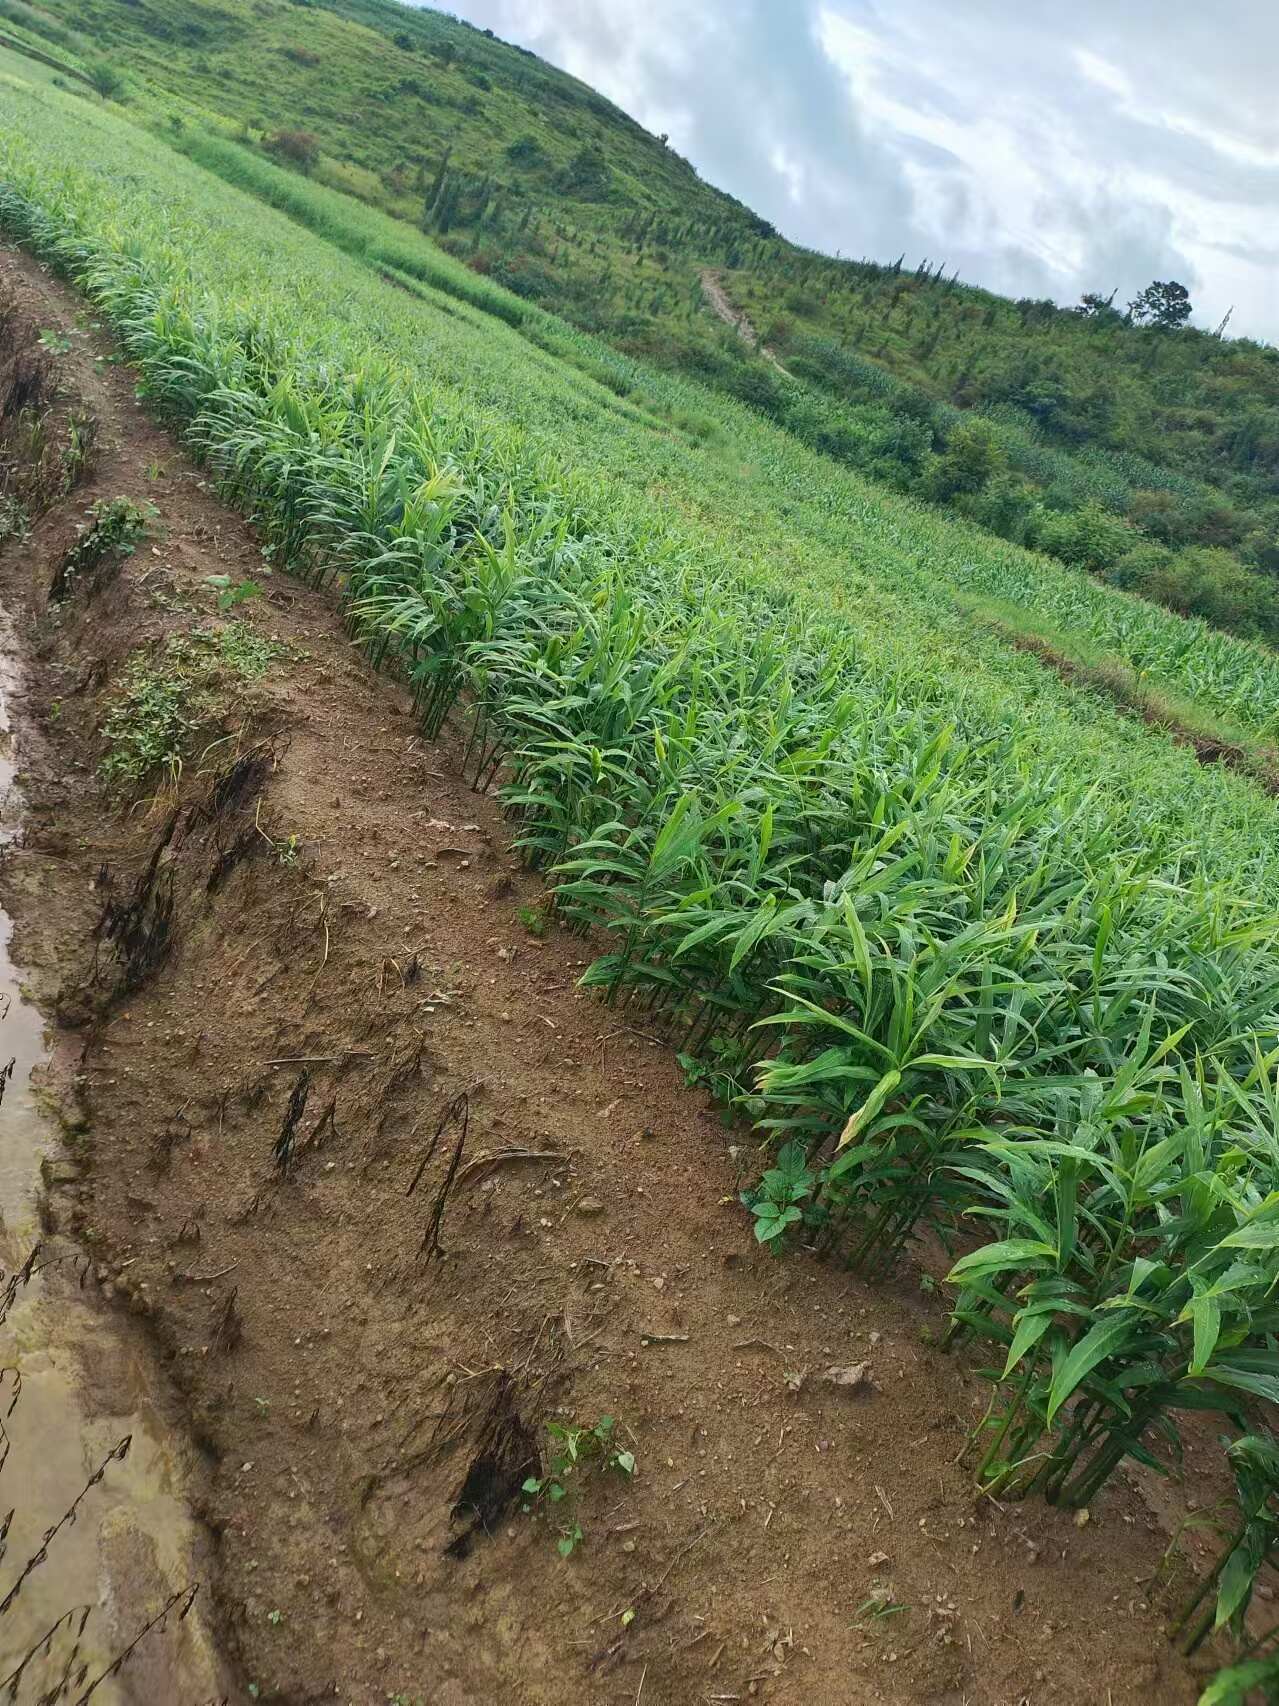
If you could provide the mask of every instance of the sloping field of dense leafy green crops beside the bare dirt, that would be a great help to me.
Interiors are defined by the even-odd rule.
[[[1274,655],[863,485],[232,143],[186,148],[5,78],[0,218],[425,730],[467,730],[559,918],[607,938],[585,981],[776,1146],[757,1237],[863,1273],[952,1247],[1001,1496],[1086,1506],[1127,1457],[1172,1464],[1182,1411],[1247,1436],[1279,1399],[1276,809],[970,606],[1257,737]]]

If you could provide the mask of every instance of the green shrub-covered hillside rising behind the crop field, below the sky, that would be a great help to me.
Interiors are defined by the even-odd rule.
[[[1276,350],[796,249],[595,90],[396,0],[0,0],[3,20],[68,67],[106,58],[102,87],[121,73],[171,135],[235,135],[895,490],[1279,638]],[[708,310],[706,268],[784,370]]]

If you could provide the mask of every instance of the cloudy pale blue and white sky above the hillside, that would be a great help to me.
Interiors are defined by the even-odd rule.
[[[827,254],[1279,343],[1279,0],[452,0]]]

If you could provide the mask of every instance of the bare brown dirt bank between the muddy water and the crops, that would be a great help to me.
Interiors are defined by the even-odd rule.
[[[1120,1477],[1085,1527],[974,1498],[957,1457],[986,1387],[929,1348],[941,1303],[752,1245],[744,1140],[576,989],[583,942],[522,926],[539,885],[496,802],[329,599],[266,582],[234,616],[285,653],[222,682],[177,786],[104,798],[128,659],[215,628],[206,577],[263,563],[80,305],[0,263],[72,336],[63,386],[101,423],[85,483],[0,560],[31,657],[3,894],[78,1056],[87,1182],[51,1213],[148,1324],[203,1447],[246,1684],[360,1706],[1192,1703],[1143,1587],[1180,1496]],[[150,537],[49,614],[85,507],[119,495],[155,505]],[[409,1184],[462,1092],[430,1261],[457,1121]],[[858,1361],[868,1389],[824,1384]],[[585,1479],[575,1556],[518,1503],[454,1544],[464,1483],[500,1503],[547,1418],[602,1414],[638,1474]]]

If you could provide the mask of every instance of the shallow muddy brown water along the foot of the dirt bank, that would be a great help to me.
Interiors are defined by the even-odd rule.
[[[9,718],[15,677],[5,638],[0,633],[0,856],[22,856]],[[22,998],[10,937],[12,921],[0,909],[0,1066],[14,1063],[0,1100],[0,1314],[10,1276],[36,1247],[39,1271],[17,1286],[0,1324],[0,1419],[9,1443],[0,1520],[14,1512],[0,1602],[22,1578],[17,1597],[0,1609],[0,1697],[67,1706],[220,1701],[229,1691],[201,1616],[203,1585],[186,1617],[177,1616],[181,1605],[171,1610],[109,1674],[174,1593],[203,1583],[201,1542],[184,1500],[182,1448],[148,1397],[155,1377],[145,1346],[102,1303],[75,1245],[41,1233],[41,1167],[72,1187],[75,1169],[36,1088],[44,1025]],[[82,1285],[85,1278],[90,1283]],[[101,1481],[84,1491],[104,1460]],[[82,1493],[75,1520],[61,1523],[44,1561],[24,1576]],[[27,1663],[10,1696],[7,1679],[55,1626],[48,1650]]]

